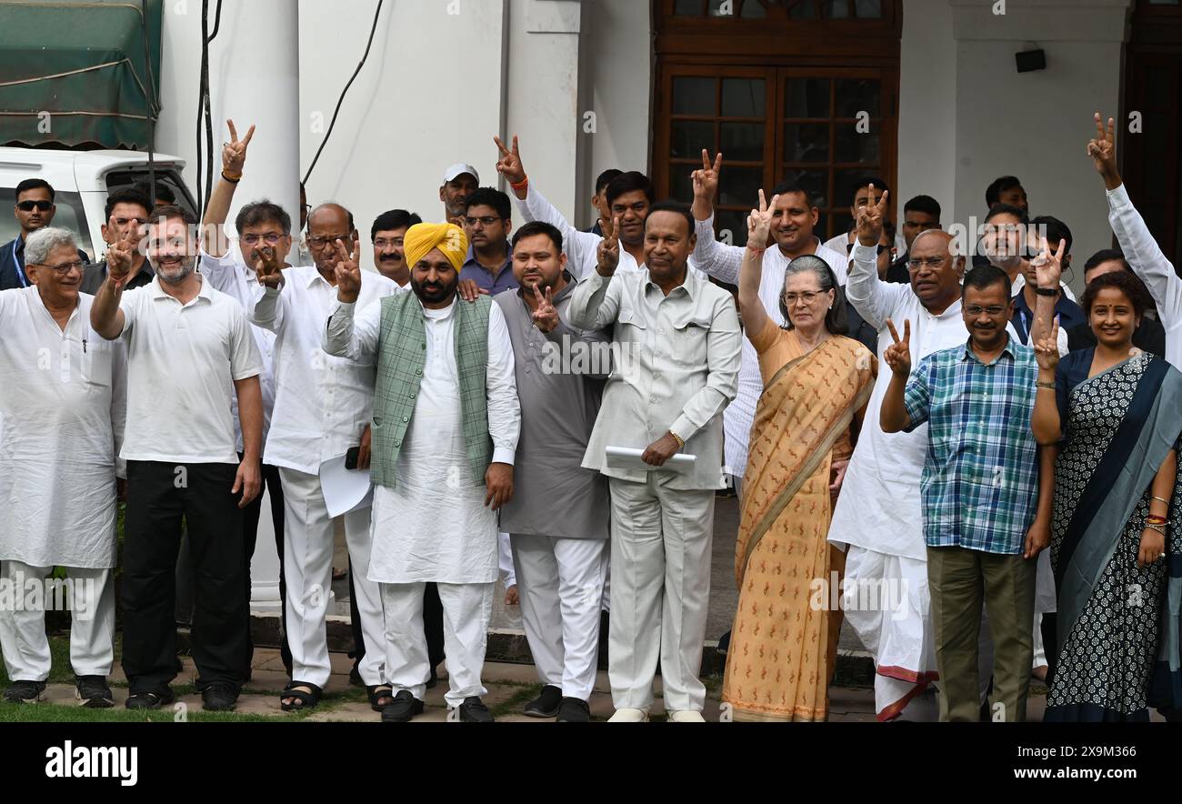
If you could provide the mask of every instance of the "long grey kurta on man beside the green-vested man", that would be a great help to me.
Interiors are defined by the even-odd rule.
[[[574,279],[553,299],[559,317],[570,307]],[[532,291],[531,291],[532,292]],[[611,371],[611,332],[558,324],[544,333],[522,290],[493,297],[513,342],[521,436],[514,462],[513,499],[501,508],[507,533],[565,539],[606,539],[608,479],[583,467],[583,455]]]

